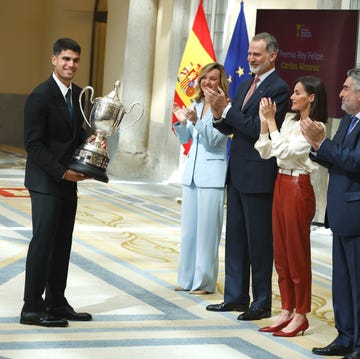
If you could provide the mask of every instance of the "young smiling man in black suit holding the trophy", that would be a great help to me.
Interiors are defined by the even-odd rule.
[[[26,259],[21,324],[65,327],[67,320],[92,319],[88,313],[75,312],[65,298],[77,182],[87,178],[68,169],[75,149],[86,140],[78,101],[81,88],[72,83],[80,52],[74,40],[57,40],[52,75],[25,103],[25,186],[31,198],[33,237]]]

